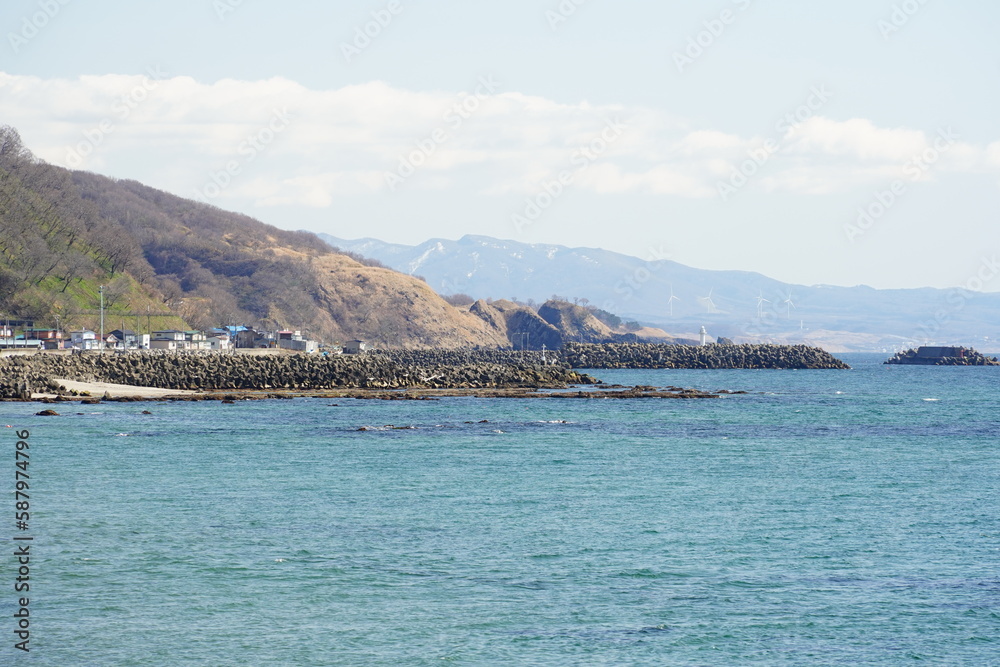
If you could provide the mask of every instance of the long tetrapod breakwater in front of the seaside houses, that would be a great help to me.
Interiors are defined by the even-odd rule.
[[[542,365],[532,356],[502,352],[323,356],[137,351],[0,357],[0,398],[56,391],[56,378],[188,391],[545,388],[596,382],[562,364]]]

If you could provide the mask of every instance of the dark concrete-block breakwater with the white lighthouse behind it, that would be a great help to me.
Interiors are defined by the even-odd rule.
[[[829,352],[807,345],[567,343],[559,358],[571,368],[850,368]]]

